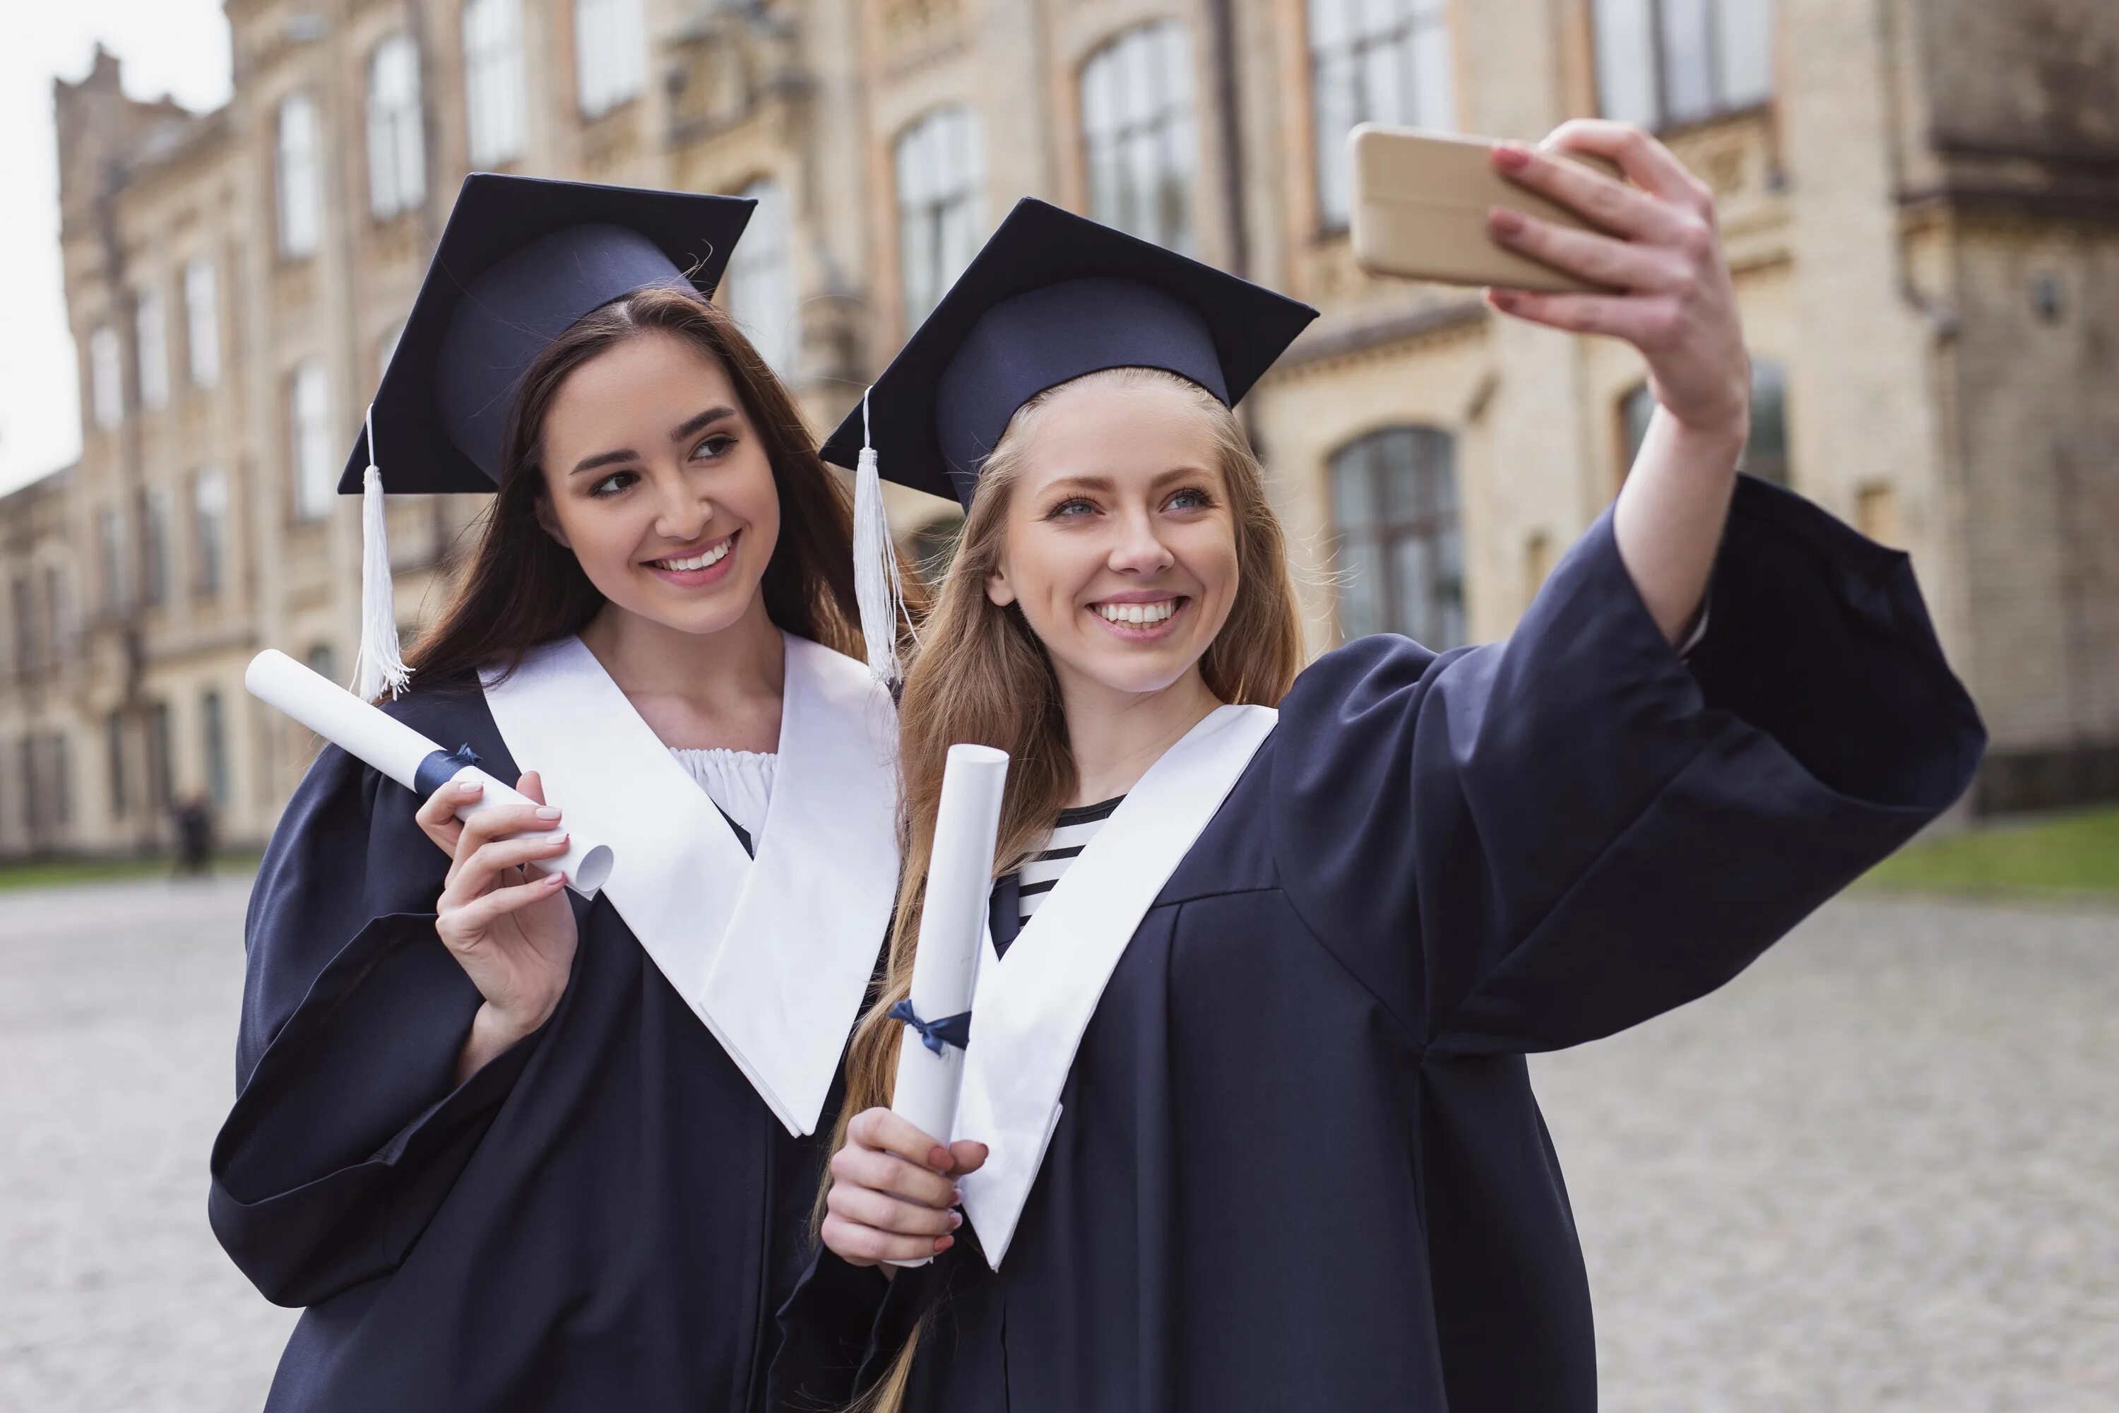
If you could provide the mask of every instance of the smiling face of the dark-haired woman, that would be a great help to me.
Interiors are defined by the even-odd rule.
[[[710,354],[646,330],[589,358],[551,398],[538,462],[538,521],[612,606],[687,633],[763,612],[780,494]]]

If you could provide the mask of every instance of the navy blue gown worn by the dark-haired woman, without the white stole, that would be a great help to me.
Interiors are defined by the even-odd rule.
[[[475,682],[390,712],[515,780]],[[479,994],[434,934],[449,860],[413,809],[326,748],[250,898],[210,1216],[307,1307],[267,1409],[759,1407],[824,1140],[788,1135],[608,896],[568,894],[545,1027],[453,1085]]]

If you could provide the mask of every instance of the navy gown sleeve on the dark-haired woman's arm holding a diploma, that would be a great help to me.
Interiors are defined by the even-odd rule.
[[[392,714],[432,710],[409,699]],[[453,744],[462,712],[456,731],[447,720],[413,725]],[[500,758],[498,741],[470,744]],[[237,1099],[214,1140],[208,1216],[280,1305],[314,1305],[405,1258],[536,1044],[453,1083],[479,994],[434,934],[449,860],[415,809],[409,790],[326,746],[250,894]]]

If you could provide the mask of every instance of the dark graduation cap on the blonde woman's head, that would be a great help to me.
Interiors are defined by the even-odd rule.
[[[824,443],[971,506],[1023,403],[1100,369],[1165,369],[1225,405],[1318,316],[1212,265],[1026,197]]]

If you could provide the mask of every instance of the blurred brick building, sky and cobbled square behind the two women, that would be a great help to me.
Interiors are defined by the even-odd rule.
[[[720,299],[818,428],[1023,195],[1305,299],[1242,411],[1310,642],[1452,646],[1651,403],[1623,345],[1363,275],[1343,138],[1606,114],[1721,203],[1746,468],[1913,555],[1992,731],[1727,991],[1541,1061],[1606,1407],[2119,1407],[2113,0],[74,0],[0,91],[0,1402],[263,1398],[288,1316],[203,1157],[316,744],[242,669],[352,669],[333,487],[466,172],[754,197]],[[481,508],[392,500],[407,640]],[[954,506],[892,517],[947,553]]]

